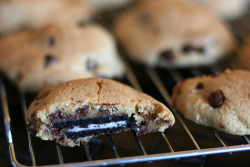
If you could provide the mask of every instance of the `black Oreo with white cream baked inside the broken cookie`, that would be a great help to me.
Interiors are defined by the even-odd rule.
[[[69,139],[78,139],[87,136],[117,133],[126,128],[135,128],[134,119],[128,115],[106,115],[92,118],[77,118],[56,121],[53,129],[65,134]]]

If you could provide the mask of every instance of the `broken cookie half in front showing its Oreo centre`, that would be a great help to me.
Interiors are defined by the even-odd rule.
[[[88,78],[50,86],[27,111],[28,128],[43,140],[79,146],[92,137],[133,129],[138,135],[163,132],[175,118],[152,97],[129,86]]]

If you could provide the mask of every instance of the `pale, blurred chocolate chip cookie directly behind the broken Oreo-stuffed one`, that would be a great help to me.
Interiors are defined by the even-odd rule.
[[[101,26],[54,24],[1,39],[0,70],[21,89],[35,92],[73,79],[121,77],[124,65]]]

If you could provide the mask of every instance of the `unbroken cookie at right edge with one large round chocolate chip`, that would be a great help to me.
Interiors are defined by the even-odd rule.
[[[250,134],[250,72],[226,70],[179,83],[173,103],[186,118],[234,135]]]

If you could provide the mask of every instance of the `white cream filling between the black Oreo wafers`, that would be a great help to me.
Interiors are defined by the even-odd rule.
[[[126,126],[127,121],[118,121],[118,122],[110,122],[105,124],[89,124],[87,128],[81,128],[80,126],[74,126],[72,129],[67,129],[68,132],[81,132],[87,130],[96,130],[96,129],[108,129],[108,128],[116,128],[121,126]]]

